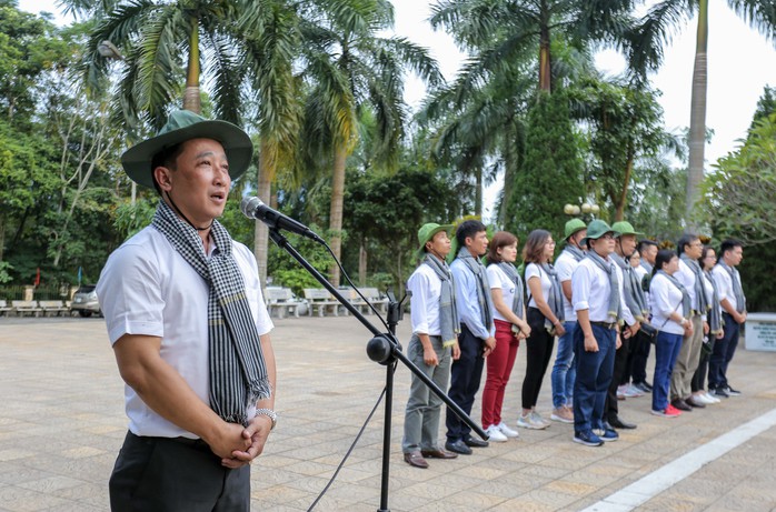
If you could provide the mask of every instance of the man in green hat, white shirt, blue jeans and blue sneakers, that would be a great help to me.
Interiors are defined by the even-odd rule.
[[[604,423],[606,391],[611,382],[619,325],[627,305],[623,280],[610,254],[618,233],[603,220],[587,227],[585,258],[571,277],[571,295],[578,328],[574,337],[577,379],[574,385],[574,441],[599,446],[616,441],[617,432]]]

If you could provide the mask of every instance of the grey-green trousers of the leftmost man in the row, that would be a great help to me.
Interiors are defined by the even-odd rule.
[[[418,367],[440,390],[447,391],[450,380],[451,350],[444,348],[441,337],[429,337],[439,365],[429,367],[424,361],[424,347],[417,334],[412,334],[407,347],[407,358]],[[409,400],[405,412],[405,435],[401,440],[404,453],[417,450],[437,450],[439,416],[442,401],[415,374],[409,386]]]

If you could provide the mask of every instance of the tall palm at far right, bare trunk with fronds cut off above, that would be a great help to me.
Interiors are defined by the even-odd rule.
[[[766,37],[776,37],[776,8],[773,0],[728,0],[738,14]],[[686,221],[694,223],[693,211],[704,177],[706,145],[706,91],[708,47],[708,0],[663,0],[653,6],[631,37],[630,66],[636,70],[657,69],[663,60],[661,42],[670,39],[676,26],[697,12],[698,27],[693,69],[693,96],[689,120],[689,164],[687,171]]]

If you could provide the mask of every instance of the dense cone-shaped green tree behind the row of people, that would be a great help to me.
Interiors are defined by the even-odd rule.
[[[563,91],[539,93],[526,122],[526,155],[515,179],[505,228],[525,240],[535,229],[563,235],[564,205],[585,197],[578,137]]]

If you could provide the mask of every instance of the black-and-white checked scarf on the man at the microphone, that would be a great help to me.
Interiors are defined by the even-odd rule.
[[[210,408],[227,422],[248,423],[248,406],[272,393],[256,321],[242,274],[231,253],[231,237],[218,221],[210,228],[216,251],[205,254],[202,239],[162,200],[152,225],[208,283]]]

